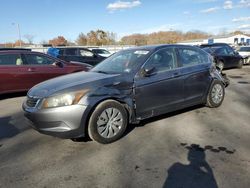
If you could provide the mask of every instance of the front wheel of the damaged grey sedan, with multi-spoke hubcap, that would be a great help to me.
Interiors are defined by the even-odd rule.
[[[89,137],[101,144],[108,144],[121,138],[127,128],[128,116],[124,107],[115,100],[100,103],[90,116]]]

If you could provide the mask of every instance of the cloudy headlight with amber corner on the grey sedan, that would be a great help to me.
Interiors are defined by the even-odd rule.
[[[42,108],[53,108],[78,104],[88,90],[65,93],[54,97],[48,97],[43,101]]]

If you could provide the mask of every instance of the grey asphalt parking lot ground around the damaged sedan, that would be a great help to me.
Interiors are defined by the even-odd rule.
[[[24,96],[1,96],[0,187],[249,188],[250,66],[225,73],[221,107],[143,121],[109,145],[39,134]]]

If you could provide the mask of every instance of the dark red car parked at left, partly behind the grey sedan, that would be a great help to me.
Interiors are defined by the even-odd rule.
[[[28,91],[50,78],[89,69],[86,64],[66,62],[39,52],[1,49],[0,94]]]

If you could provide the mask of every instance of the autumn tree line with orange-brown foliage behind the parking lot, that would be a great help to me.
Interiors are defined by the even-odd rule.
[[[235,31],[228,34],[244,34],[241,31]],[[248,34],[249,35],[249,34]],[[250,35],[249,35],[250,36]],[[113,32],[103,31],[103,30],[91,30],[87,34],[80,33],[77,39],[72,42],[65,39],[64,36],[55,37],[49,41],[43,41],[43,44],[50,44],[52,46],[70,46],[70,45],[80,45],[80,46],[102,46],[102,45],[150,45],[150,44],[174,44],[187,40],[204,39],[214,37],[213,35],[202,32],[202,31],[159,31],[150,34],[131,34],[124,36],[117,41],[117,35]],[[24,35],[27,42],[15,41],[14,43],[6,43],[5,47],[16,47],[33,44],[32,35]]]

